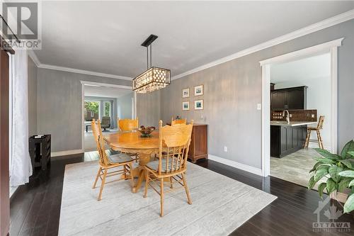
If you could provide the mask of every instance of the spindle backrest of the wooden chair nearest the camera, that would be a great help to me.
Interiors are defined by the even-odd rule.
[[[166,153],[164,167],[162,166],[163,158],[159,158],[159,174],[163,168],[166,170],[164,174],[173,174],[185,169],[192,129],[193,120],[189,125],[178,124],[164,127],[162,127],[162,120],[159,121],[159,157],[163,157],[162,152]]]

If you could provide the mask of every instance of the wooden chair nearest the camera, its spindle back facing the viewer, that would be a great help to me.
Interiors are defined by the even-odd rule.
[[[159,121],[159,156],[158,160],[149,162],[146,169],[144,198],[147,197],[147,188],[151,186],[160,195],[160,215],[164,216],[164,194],[177,189],[184,188],[187,194],[188,203],[192,204],[190,194],[185,179],[187,171],[187,158],[192,134],[193,120],[189,125],[180,124],[162,127],[162,120]],[[164,158],[162,152],[165,152]],[[170,189],[164,191],[164,181],[169,179]],[[159,181],[159,184],[156,182]],[[181,184],[181,187],[173,188],[172,181]],[[156,189],[156,184],[160,190]]]

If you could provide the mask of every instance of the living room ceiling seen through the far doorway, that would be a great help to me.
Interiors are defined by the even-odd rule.
[[[120,98],[131,94],[131,89],[120,89],[109,86],[84,86],[85,96],[101,96],[103,98]]]

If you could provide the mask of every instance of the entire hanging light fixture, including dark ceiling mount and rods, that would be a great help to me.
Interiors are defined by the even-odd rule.
[[[132,81],[133,91],[140,94],[163,89],[171,83],[171,71],[169,69],[152,67],[152,42],[154,42],[156,38],[156,35],[150,35],[149,38],[142,43],[143,47],[147,47],[147,70],[139,74]]]

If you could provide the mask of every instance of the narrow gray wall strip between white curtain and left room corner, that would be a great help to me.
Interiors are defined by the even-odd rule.
[[[37,134],[37,66],[28,57],[28,135]]]

